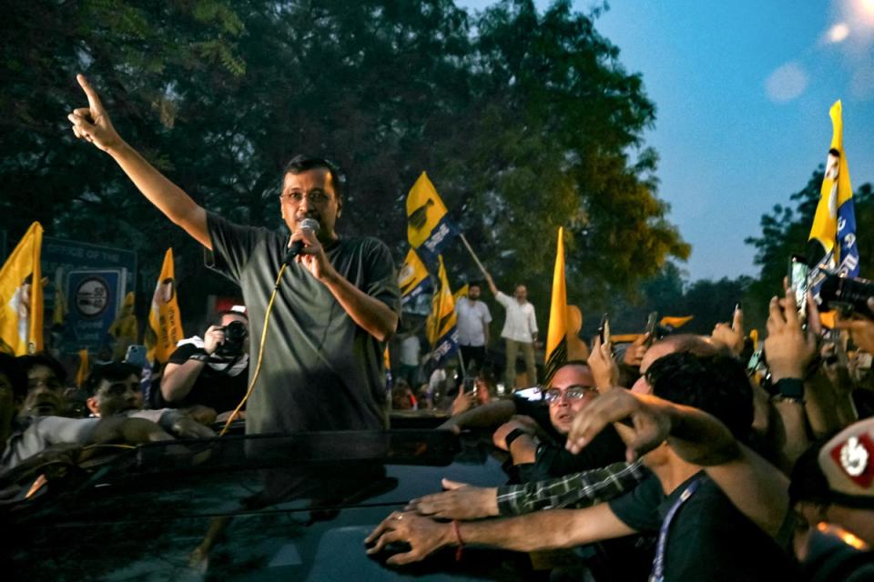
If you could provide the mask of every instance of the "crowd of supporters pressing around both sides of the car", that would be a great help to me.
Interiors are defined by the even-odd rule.
[[[536,396],[499,395],[503,366],[455,382],[405,362],[394,406],[442,406],[439,429],[487,430],[507,480],[444,482],[386,517],[366,551],[401,566],[447,546],[574,548],[555,579],[874,579],[874,321],[824,329],[812,296],[806,325],[797,305],[791,289],[771,300],[762,354],[739,310],[710,336],[644,334],[623,349],[596,337]],[[225,314],[182,342],[151,401],[130,363],[71,388],[52,356],[0,355],[3,495],[20,495],[10,476],[73,449],[215,437],[245,391],[222,376],[248,366],[248,349],[221,349],[234,321],[246,324]],[[228,397],[209,394],[224,384]],[[386,554],[395,542],[409,546]]]

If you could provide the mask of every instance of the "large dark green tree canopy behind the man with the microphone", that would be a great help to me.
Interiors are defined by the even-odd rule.
[[[596,14],[567,0],[473,15],[452,0],[14,0],[0,24],[0,227],[15,240],[39,220],[137,250],[140,291],[172,245],[180,298],[186,278],[190,301],[228,292],[108,156],[76,143],[66,113],[84,105],[83,72],[119,133],[223,216],[278,227],[285,162],[327,156],[350,176],[340,232],[380,236],[400,262],[404,196],[427,171],[499,286],[527,283],[545,314],[565,226],[569,299],[604,304],[689,246],[656,196],[642,137],[655,105]],[[447,255],[453,282],[477,276],[461,246]]]

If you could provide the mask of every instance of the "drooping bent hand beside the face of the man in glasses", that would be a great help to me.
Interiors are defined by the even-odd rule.
[[[598,396],[574,417],[567,436],[567,449],[576,455],[610,423],[626,418],[631,425],[616,424],[625,442],[625,458],[633,462],[658,447],[671,433],[670,404],[661,398],[632,394],[625,389],[610,390]]]

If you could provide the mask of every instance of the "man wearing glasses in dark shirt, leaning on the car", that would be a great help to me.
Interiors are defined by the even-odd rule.
[[[606,467],[625,459],[625,445],[612,426],[595,437],[579,455],[564,448],[564,440],[576,416],[598,396],[595,378],[583,361],[568,362],[556,370],[544,389],[553,430],[547,431],[528,416],[513,416],[493,435],[495,447],[513,458],[514,479],[528,483],[551,477]]]

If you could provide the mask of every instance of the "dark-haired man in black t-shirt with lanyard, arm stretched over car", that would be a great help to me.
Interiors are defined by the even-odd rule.
[[[368,538],[375,542],[368,551],[408,542],[410,551],[389,558],[404,564],[442,546],[532,551],[641,532],[659,537],[654,579],[792,579],[788,555],[775,543],[790,533],[788,480],[736,440],[752,421],[743,367],[727,356],[674,354],[650,366],[637,390],[599,396],[576,416],[568,438],[578,451],[615,423],[629,458],[642,456],[652,471],[631,493],[586,509],[477,523],[394,513]]]

